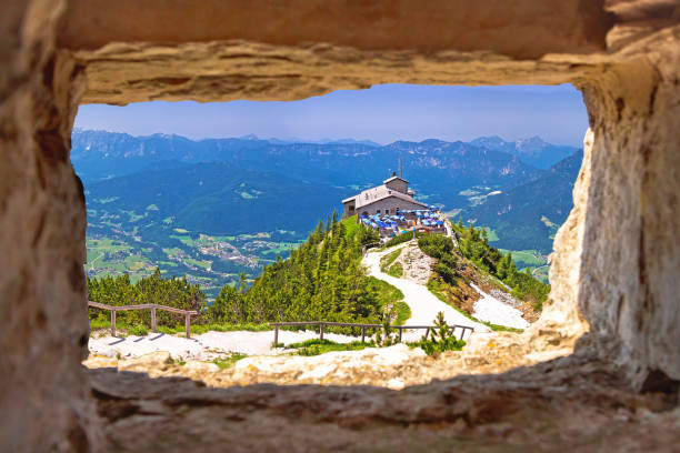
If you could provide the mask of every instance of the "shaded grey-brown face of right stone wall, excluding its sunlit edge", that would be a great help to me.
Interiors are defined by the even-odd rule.
[[[598,353],[643,387],[680,380],[677,39],[640,42],[643,59],[584,88],[594,140],[578,301]]]

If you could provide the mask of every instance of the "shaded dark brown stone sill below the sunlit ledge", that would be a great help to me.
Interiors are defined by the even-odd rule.
[[[576,358],[401,391],[370,385],[212,389],[92,370],[104,451],[674,451],[676,402]]]

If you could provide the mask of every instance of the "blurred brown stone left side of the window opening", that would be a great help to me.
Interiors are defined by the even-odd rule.
[[[0,450],[86,451],[82,185],[69,161],[79,70],[54,47],[60,1],[12,1],[0,27]],[[4,11],[3,11],[4,12]]]

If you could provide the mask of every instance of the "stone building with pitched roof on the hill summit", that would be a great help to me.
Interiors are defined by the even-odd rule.
[[[416,192],[409,189],[409,181],[392,173],[384,180],[382,185],[367,189],[363,192],[342,200],[344,207],[343,217],[358,215],[391,215],[397,210],[422,210],[429,209],[426,203],[416,201]]]

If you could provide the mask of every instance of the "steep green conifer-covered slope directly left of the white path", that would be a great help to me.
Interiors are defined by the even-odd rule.
[[[362,244],[376,240],[373,230],[354,219],[339,222],[334,213],[326,224],[319,222],[288,260],[267,266],[248,291],[224,286],[210,315],[229,323],[379,322],[386,289],[360,265]]]

